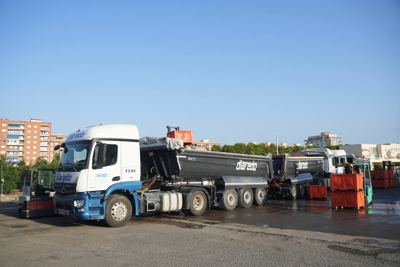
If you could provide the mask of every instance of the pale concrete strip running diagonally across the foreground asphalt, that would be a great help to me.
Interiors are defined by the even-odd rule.
[[[348,243],[348,244],[356,244],[356,245],[366,245],[369,247],[381,247],[381,248],[390,248],[390,249],[399,249],[400,241],[399,240],[391,240],[384,238],[376,238],[376,237],[358,237],[353,235],[338,235],[332,233],[323,233],[323,232],[314,232],[314,231],[304,231],[304,230],[292,230],[292,229],[280,229],[273,227],[258,227],[252,225],[243,225],[239,223],[224,223],[221,221],[202,221],[202,220],[184,220],[184,219],[171,219],[171,218],[163,218],[167,221],[174,221],[180,223],[192,223],[196,225],[205,225],[209,227],[219,227],[225,229],[232,230],[240,230],[240,231],[250,231],[250,232],[258,232],[258,233],[266,233],[270,235],[282,235],[289,237],[298,237],[298,238],[306,238],[306,239],[315,239],[320,241],[328,241],[328,242],[339,242],[339,243]]]

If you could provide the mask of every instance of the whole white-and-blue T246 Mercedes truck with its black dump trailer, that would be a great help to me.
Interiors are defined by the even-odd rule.
[[[139,138],[134,125],[99,125],[68,135],[53,181],[54,213],[119,227],[146,211],[201,215],[261,205],[272,156],[184,149],[181,139]],[[148,177],[140,181],[141,177]]]

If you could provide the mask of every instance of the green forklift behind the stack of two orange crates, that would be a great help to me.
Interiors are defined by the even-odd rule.
[[[370,173],[370,165],[368,163],[344,163],[340,165],[344,167],[345,174],[362,174],[362,189],[364,191],[364,202],[365,207],[368,206],[369,203],[372,203],[372,185],[371,185],[371,173]],[[366,173],[368,172],[368,175]]]

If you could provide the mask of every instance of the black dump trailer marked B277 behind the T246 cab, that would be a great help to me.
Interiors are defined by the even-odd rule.
[[[181,139],[140,139],[142,177],[156,177],[160,191],[182,194],[182,212],[201,215],[220,205],[232,210],[261,205],[273,177],[272,155],[256,156],[184,149]],[[153,178],[154,179],[154,178]]]

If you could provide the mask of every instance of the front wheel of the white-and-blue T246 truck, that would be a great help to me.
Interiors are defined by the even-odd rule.
[[[110,227],[121,227],[132,216],[132,204],[123,195],[112,195],[107,199],[104,223]]]

